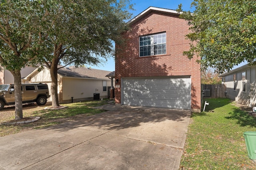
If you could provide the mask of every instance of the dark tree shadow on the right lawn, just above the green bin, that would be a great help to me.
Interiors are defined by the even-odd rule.
[[[232,112],[228,114],[230,114],[230,116],[225,117],[226,119],[236,120],[236,123],[242,127],[256,127],[256,117],[249,115],[246,111],[235,108]]]

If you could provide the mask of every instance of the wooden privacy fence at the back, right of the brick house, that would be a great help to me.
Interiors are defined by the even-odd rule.
[[[202,90],[204,90],[204,97],[226,98],[225,84],[202,84]]]

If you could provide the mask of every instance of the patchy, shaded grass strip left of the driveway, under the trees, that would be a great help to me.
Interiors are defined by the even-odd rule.
[[[94,109],[93,107],[108,104],[112,101],[90,101],[90,102],[78,102],[72,104],[62,104],[62,106],[67,106],[65,109],[58,110],[45,110],[44,107],[40,107],[36,104],[30,104],[23,106],[23,117],[26,119],[28,117],[40,117],[38,121],[26,124],[4,124],[9,122],[14,122],[14,107],[7,107],[0,111],[0,137],[11,135],[14,133],[20,133],[23,131],[28,131],[32,129],[38,129],[42,127],[47,127],[51,125],[56,125],[64,121],[71,121],[81,117],[86,117],[90,115],[95,115],[97,113],[102,113],[106,110]],[[50,106],[48,106],[50,107]]]

